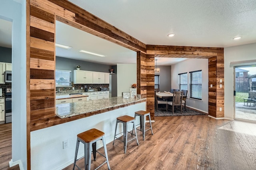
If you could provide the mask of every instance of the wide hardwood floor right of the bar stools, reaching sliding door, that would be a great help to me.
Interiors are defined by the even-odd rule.
[[[193,115],[155,117],[152,126],[154,135],[147,131],[143,141],[137,131],[140,145],[129,142],[126,154],[120,140],[107,145],[112,170],[255,170],[256,124]],[[102,148],[98,151],[104,153]],[[97,154],[92,169],[102,162]],[[79,160],[78,166],[84,168],[83,163]],[[73,164],[64,170],[72,168]],[[103,169],[106,164],[99,168]]]

